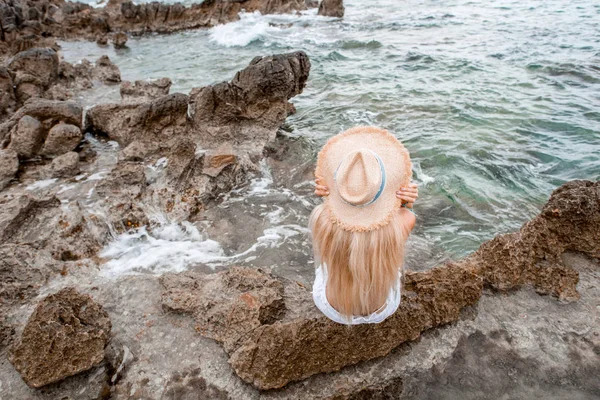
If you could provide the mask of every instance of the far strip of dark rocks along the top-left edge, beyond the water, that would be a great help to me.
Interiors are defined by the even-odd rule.
[[[305,0],[206,0],[186,7],[181,3],[110,0],[105,7],[64,0],[2,0],[0,54],[4,57],[32,47],[56,46],[56,39],[112,42],[124,47],[129,35],[172,33],[236,21],[240,11],[262,14],[297,12],[314,7]]]

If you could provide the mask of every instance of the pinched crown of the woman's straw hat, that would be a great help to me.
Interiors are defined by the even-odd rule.
[[[353,206],[364,206],[376,199],[381,191],[383,165],[371,150],[348,153],[335,172],[338,195]]]

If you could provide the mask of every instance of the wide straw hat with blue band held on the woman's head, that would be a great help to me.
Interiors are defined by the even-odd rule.
[[[334,223],[367,232],[386,225],[402,200],[396,191],[410,183],[408,150],[386,130],[358,126],[329,139],[315,175],[329,187],[325,206]]]

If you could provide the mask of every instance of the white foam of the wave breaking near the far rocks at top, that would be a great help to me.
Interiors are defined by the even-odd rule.
[[[210,39],[225,47],[244,47],[263,37],[269,23],[259,11],[240,13],[239,21],[217,25],[210,29]]]

